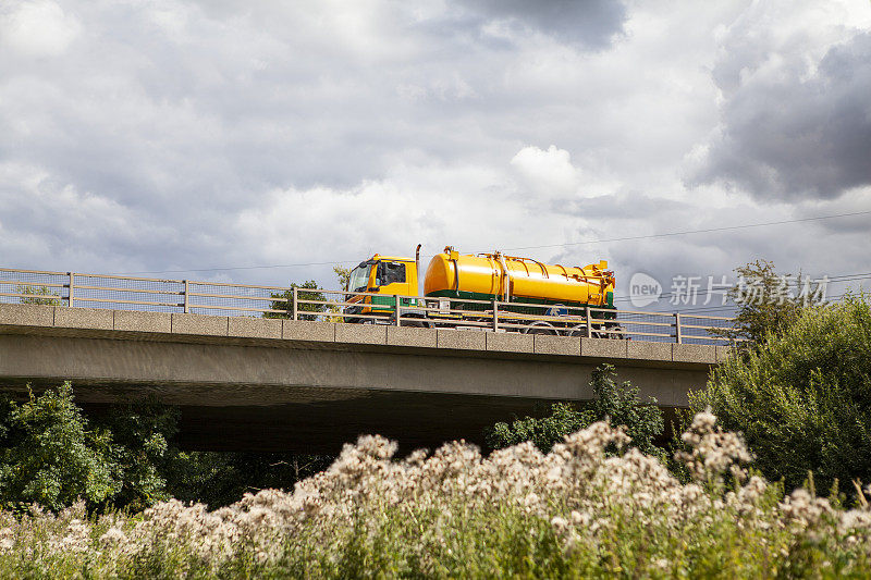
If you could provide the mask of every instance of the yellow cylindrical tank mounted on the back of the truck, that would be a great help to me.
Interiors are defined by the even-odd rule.
[[[500,252],[463,255],[444,248],[424,280],[430,297],[613,307],[614,273],[608,262],[579,267],[545,264]]]

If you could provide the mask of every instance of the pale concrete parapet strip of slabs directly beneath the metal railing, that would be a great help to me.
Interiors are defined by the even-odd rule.
[[[733,347],[698,344],[648,343],[614,338],[587,338],[551,335],[526,335],[519,333],[493,333],[454,329],[424,329],[416,326],[392,326],[385,324],[346,324],[333,322],[294,321],[287,319],[262,319],[248,317],[221,317],[191,313],[142,312],[133,310],[103,310],[38,305],[0,305],[0,326],[13,334],[41,333],[38,329],[52,326],[63,329],[58,335],[106,337],[105,331],[138,333],[136,340],[165,341],[165,334],[179,335],[173,342],[203,342],[193,336],[228,336],[271,341],[268,346],[294,347],[294,342],[340,343],[339,349],[359,345],[391,347],[439,348],[481,351],[481,358],[505,358],[498,353],[518,355],[561,356],[600,359],[627,359],[630,361],[678,362],[683,365],[715,365],[723,362]],[[21,326],[15,330],[14,326]],[[29,329],[29,330],[28,330]],[[189,341],[181,335],[189,335]],[[130,338],[125,334],[120,338]],[[284,342],[279,342],[279,341]],[[212,341],[209,341],[212,342]],[[312,348],[300,344],[299,348]],[[370,349],[371,350],[371,349]],[[488,353],[492,353],[489,355]],[[420,354],[420,353],[415,353]],[[581,362],[581,361],[578,361]],[[636,363],[636,362],[633,362]]]

